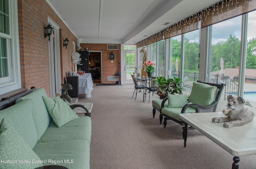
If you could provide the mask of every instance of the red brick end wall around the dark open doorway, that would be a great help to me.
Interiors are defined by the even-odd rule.
[[[113,81],[108,81],[108,76],[115,76],[118,72],[118,63],[121,61],[121,45],[118,44],[118,50],[108,50],[108,45],[109,44],[80,43],[80,47],[82,47],[82,49],[87,47],[88,51],[102,51],[102,83],[116,83]],[[115,59],[112,60],[113,63],[110,63],[111,60],[109,59],[109,54],[111,52],[115,54]],[[120,66],[119,72],[121,72]],[[119,77],[118,80],[121,81],[121,77]]]

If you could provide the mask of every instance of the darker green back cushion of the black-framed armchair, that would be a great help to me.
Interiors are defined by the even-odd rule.
[[[214,101],[214,94],[216,90],[216,86],[194,82],[188,102],[208,106]]]

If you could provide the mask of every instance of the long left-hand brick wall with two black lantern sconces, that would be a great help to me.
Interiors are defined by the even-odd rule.
[[[72,70],[72,41],[77,43],[77,38],[45,0],[18,0],[22,87],[43,87],[50,96],[49,41],[48,37],[44,38],[48,16],[61,28],[60,66],[61,83],[64,83],[66,73]],[[66,37],[69,39],[67,49],[63,47]]]

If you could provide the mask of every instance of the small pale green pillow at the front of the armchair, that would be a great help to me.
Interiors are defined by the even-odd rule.
[[[187,104],[187,95],[168,94],[168,108],[182,108]]]

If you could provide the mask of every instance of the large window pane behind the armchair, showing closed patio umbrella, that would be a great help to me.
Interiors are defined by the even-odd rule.
[[[225,83],[224,98],[237,96],[242,16],[212,25],[211,83]]]

